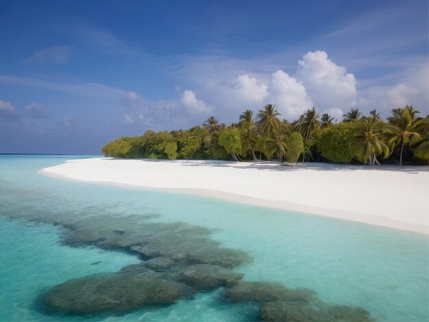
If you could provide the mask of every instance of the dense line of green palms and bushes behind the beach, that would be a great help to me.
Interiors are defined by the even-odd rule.
[[[148,130],[121,137],[101,151],[115,158],[327,161],[362,164],[428,164],[429,116],[412,106],[395,108],[387,122],[372,110],[356,108],[340,123],[328,113],[309,109],[293,122],[280,120],[275,106],[245,110],[238,123],[226,125],[210,116],[202,126],[171,132]]]

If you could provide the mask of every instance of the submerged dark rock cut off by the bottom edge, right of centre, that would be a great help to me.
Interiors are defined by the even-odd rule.
[[[315,304],[291,304],[288,301],[269,302],[262,306],[262,321],[338,321],[369,322],[374,321],[363,308],[351,306],[328,306],[323,301]]]

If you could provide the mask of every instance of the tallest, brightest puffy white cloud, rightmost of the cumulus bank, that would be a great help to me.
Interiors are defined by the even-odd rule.
[[[296,77],[319,110],[352,108],[357,103],[356,78],[328,58],[325,51],[309,51],[298,61]]]

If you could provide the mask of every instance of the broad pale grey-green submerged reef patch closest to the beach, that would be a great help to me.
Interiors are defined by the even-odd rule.
[[[144,218],[143,218],[144,219]],[[252,262],[239,249],[220,247],[212,230],[186,223],[151,223],[139,216],[84,219],[69,225],[66,245],[95,244],[105,249],[134,251],[145,259],[164,257],[190,264],[213,264],[233,268]]]

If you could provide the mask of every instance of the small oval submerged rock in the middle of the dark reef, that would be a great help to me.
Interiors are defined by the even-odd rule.
[[[199,289],[217,288],[236,284],[244,274],[210,264],[189,265],[180,275],[184,283]]]

